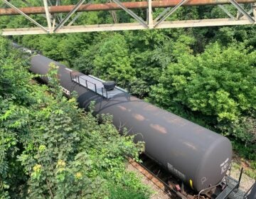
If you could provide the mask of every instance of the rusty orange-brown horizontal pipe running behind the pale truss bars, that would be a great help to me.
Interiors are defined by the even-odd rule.
[[[165,1],[152,1],[152,8],[166,8],[176,6],[180,0],[165,0]],[[255,3],[256,0],[237,0],[238,4]],[[122,3],[127,9],[147,9],[147,1],[134,1]],[[218,5],[218,4],[230,4],[229,0],[189,0],[183,6],[203,6],[203,5]],[[69,13],[74,9],[75,5],[68,6],[49,6],[49,12],[55,13]],[[24,14],[45,14],[45,8],[43,6],[38,7],[24,7],[19,8]],[[82,5],[78,11],[112,11],[120,10],[121,8],[114,3],[107,4],[90,4]],[[0,9],[0,16],[5,15],[18,15],[18,11],[14,9]]]

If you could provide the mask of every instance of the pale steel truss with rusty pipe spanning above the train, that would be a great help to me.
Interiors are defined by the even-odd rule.
[[[2,1],[1,16],[21,15],[31,21],[31,27],[4,28],[0,30],[2,36],[28,35],[28,34],[53,34],[53,33],[80,33],[93,31],[126,31],[154,28],[188,28],[203,26],[235,26],[255,24],[256,0],[162,0],[162,1],[119,1],[110,0],[108,3],[95,4],[93,0],[80,0],[75,5],[63,5],[61,0],[41,0],[41,6],[31,6],[26,0],[21,0],[26,6],[18,7],[11,0]],[[172,16],[181,6],[218,6],[227,16],[226,18],[208,18],[195,20],[170,21]],[[234,7],[236,13],[231,13],[226,5]],[[162,8],[156,16],[153,10]],[[144,18],[136,14],[138,9],[146,13]],[[115,11],[125,11],[134,18],[134,23],[118,23]],[[134,11],[136,10],[136,11]],[[109,11],[115,23],[73,26],[73,23],[83,12]],[[34,18],[41,15],[45,21],[41,24]],[[63,17],[64,16],[64,17]],[[156,17],[153,17],[156,16]],[[43,26],[43,24],[45,26]],[[1,26],[3,24],[0,24]],[[1,27],[0,26],[0,27]],[[2,26],[3,27],[3,26]]]

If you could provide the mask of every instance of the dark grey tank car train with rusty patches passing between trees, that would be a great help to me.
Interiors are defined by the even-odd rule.
[[[145,154],[191,190],[207,193],[226,184],[233,156],[228,138],[144,102],[112,81],[82,74],[43,55],[33,53],[29,70],[42,75],[41,80],[47,84],[51,63],[58,66],[58,79],[65,95],[75,91],[80,108],[88,109],[95,102],[95,114],[112,114],[117,129],[127,129],[135,142],[144,141]],[[233,189],[239,186],[240,181],[236,182]]]

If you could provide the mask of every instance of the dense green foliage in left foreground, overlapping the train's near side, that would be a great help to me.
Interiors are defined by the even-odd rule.
[[[50,87],[35,84],[26,57],[0,46],[0,198],[148,198],[125,166],[143,143],[63,97],[55,65]]]

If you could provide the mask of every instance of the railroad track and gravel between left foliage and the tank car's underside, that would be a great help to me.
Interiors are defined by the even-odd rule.
[[[140,155],[142,163],[134,161],[132,158],[128,158],[129,163],[149,179],[154,185],[156,185],[161,191],[166,193],[171,199],[198,199],[198,195],[193,193],[187,193],[184,188],[181,188],[178,184],[180,181],[171,176],[171,173],[162,168],[154,160],[146,156]],[[200,199],[206,199],[206,197],[200,197]]]

